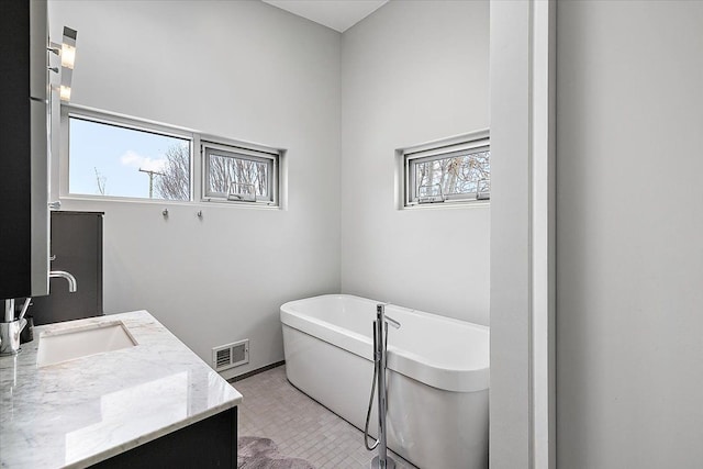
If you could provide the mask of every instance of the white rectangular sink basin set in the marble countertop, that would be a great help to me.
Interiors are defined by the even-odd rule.
[[[46,367],[89,355],[134,347],[122,321],[103,322],[62,331],[45,331],[40,335],[36,365]]]

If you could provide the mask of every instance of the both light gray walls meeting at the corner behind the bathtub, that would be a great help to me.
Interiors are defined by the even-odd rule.
[[[165,222],[159,203],[65,198],[107,213],[109,313],[147,309],[207,361],[249,337],[250,366],[225,376],[282,359],[278,306],[294,298],[342,290],[488,324],[489,206],[394,204],[395,148],[489,125],[488,2],[391,2],[344,36],[258,1],[49,14],[53,37],[79,32],[74,103],[288,149],[284,211],[172,204]]]

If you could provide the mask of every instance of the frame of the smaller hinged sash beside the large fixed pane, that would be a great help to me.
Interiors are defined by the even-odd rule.
[[[210,139],[201,141],[201,160],[202,160],[202,199],[205,202],[230,202],[230,203],[256,203],[260,205],[278,206],[278,192],[279,192],[279,159],[281,157],[280,150],[272,148],[265,148],[258,145],[247,145],[246,147],[237,144],[223,144]],[[233,200],[228,198],[227,193],[214,192],[210,190],[209,175],[210,175],[210,154],[215,153],[217,156],[231,157],[236,159],[246,159],[249,161],[265,163],[268,167],[268,181],[267,192],[268,197],[256,197],[254,201],[247,200]]]

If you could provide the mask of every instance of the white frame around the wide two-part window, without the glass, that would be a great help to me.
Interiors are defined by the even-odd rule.
[[[82,119],[99,124],[115,125],[123,129],[142,131],[158,135],[172,136],[190,141],[190,198],[189,200],[164,200],[148,198],[133,198],[120,196],[100,196],[100,194],[78,194],[69,192],[69,118]],[[269,193],[271,199],[257,200],[256,202],[227,200],[224,197],[215,197],[207,194],[207,147],[216,148],[219,150],[242,155],[245,158],[265,158],[270,159],[270,182]],[[192,204],[192,203],[223,203],[232,206],[254,206],[254,208],[272,208],[283,209],[282,187],[283,176],[283,155],[286,149],[269,147],[260,144],[235,141],[231,138],[220,137],[211,134],[204,134],[186,127],[163,124],[159,122],[137,119],[124,114],[118,114],[87,108],[76,104],[60,105],[60,158],[58,170],[55,176],[58,180],[58,197],[60,199],[78,199],[78,200],[96,200],[96,201],[129,201],[142,203],[166,203],[166,204]],[[200,150],[201,157],[196,158],[196,153]]]

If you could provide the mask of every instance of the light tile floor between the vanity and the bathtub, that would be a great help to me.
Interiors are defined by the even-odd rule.
[[[284,366],[233,386],[244,395],[238,409],[239,436],[270,438],[281,455],[303,458],[317,469],[368,468],[378,454],[364,447],[362,432],[288,382]],[[398,469],[416,469],[400,456],[391,456]]]

